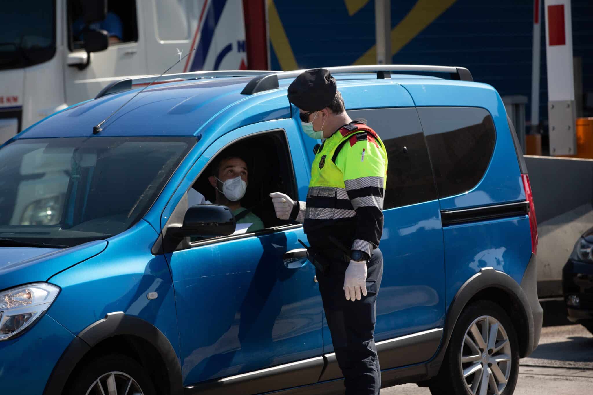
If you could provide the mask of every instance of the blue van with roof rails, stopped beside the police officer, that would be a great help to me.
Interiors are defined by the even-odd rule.
[[[511,394],[543,311],[499,94],[464,68],[328,69],[389,155],[383,386]],[[0,147],[3,394],[343,391],[307,237],[269,200],[307,194],[317,142],[286,99],[300,72],[126,79]],[[190,197],[212,201],[212,163],[231,150],[263,229]]]

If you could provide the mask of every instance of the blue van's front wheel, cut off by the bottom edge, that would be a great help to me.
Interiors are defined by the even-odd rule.
[[[75,372],[69,390],[65,395],[98,395],[103,388],[104,393],[110,393],[109,388],[115,386],[117,395],[141,393],[143,395],[157,395],[154,383],[144,372],[145,369],[127,355],[111,354],[99,357],[89,362]]]

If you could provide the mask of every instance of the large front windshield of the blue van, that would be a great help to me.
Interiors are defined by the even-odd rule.
[[[144,216],[193,137],[15,140],[0,149],[0,239],[74,246]]]

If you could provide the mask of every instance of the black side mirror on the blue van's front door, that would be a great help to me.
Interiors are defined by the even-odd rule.
[[[235,216],[225,205],[197,204],[187,209],[176,236],[219,237],[235,232]]]

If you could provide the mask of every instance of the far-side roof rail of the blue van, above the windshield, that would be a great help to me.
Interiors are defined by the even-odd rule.
[[[275,73],[270,70],[214,70],[214,71],[195,71],[190,73],[166,74],[163,79],[154,84],[165,84],[167,82],[189,81],[192,79],[218,78],[218,77],[253,77],[262,74]],[[148,85],[157,78],[157,75],[136,75],[129,76],[118,81],[111,82],[95,96],[95,99],[114,94],[117,92],[128,91],[138,85]],[[154,85],[153,84],[153,85]]]

